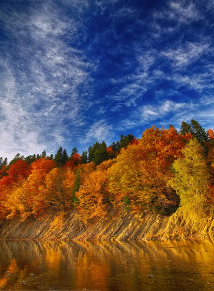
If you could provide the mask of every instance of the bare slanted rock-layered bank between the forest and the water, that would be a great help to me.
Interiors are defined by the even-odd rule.
[[[0,239],[31,240],[146,240],[214,237],[214,220],[197,229],[178,213],[170,217],[112,212],[84,226],[76,213],[49,214],[43,218],[0,221]]]

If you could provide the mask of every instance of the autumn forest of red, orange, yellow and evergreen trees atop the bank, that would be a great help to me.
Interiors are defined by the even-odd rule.
[[[90,223],[117,210],[171,215],[202,224],[214,216],[214,130],[196,120],[181,129],[154,126],[141,138],[121,135],[80,155],[0,158],[0,218],[36,219],[76,210]]]

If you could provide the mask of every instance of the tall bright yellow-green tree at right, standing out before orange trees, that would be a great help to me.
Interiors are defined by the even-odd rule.
[[[196,139],[183,149],[184,158],[173,163],[175,177],[168,185],[181,198],[181,211],[187,220],[199,225],[208,218],[209,173],[203,148]]]

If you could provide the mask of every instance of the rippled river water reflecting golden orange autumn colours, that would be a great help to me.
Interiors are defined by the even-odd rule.
[[[0,290],[214,290],[214,241],[1,240]]]

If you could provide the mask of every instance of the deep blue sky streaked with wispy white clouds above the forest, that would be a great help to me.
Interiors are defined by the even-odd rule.
[[[213,0],[0,1],[0,156],[214,128]]]

